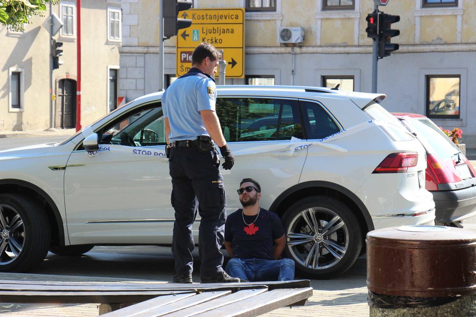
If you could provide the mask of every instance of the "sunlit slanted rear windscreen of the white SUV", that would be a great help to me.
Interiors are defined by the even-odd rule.
[[[398,119],[379,104],[364,108],[364,112],[394,141],[414,140],[414,136],[403,127]]]

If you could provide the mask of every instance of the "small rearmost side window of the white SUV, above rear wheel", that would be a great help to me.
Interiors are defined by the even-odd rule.
[[[336,121],[318,103],[299,101],[307,139],[322,139],[340,131]]]

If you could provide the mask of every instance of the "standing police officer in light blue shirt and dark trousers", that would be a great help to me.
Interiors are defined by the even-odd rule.
[[[202,283],[239,282],[222,268],[220,248],[226,220],[225,190],[220,159],[213,142],[230,169],[234,158],[226,144],[215,112],[217,90],[210,75],[217,70],[220,53],[209,43],[199,44],[192,54],[192,68],[173,82],[162,95],[162,108],[172,177],[175,209],[172,252],[175,283],[192,283],[194,237],[192,224],[200,214],[199,254]]]

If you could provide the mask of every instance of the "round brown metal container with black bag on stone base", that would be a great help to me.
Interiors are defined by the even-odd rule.
[[[404,226],[367,234],[371,317],[476,316],[476,234]]]

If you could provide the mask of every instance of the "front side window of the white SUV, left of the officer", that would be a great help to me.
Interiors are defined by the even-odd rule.
[[[131,111],[101,129],[101,135],[103,144],[129,147],[165,144],[162,107],[153,104]]]

